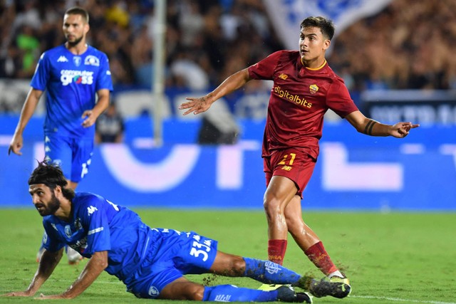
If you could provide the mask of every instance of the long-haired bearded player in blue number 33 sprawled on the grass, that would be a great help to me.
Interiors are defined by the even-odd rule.
[[[344,283],[300,276],[271,261],[217,251],[217,241],[194,231],[150,228],[130,209],[96,194],[75,193],[66,184],[61,169],[46,162],[40,162],[28,179],[33,205],[43,216],[45,251],[28,288],[6,296],[35,295],[51,276],[65,245],[90,260],[66,291],[58,295],[41,295],[42,298],[75,298],[102,271],[119,278],[138,298],[311,303],[309,295],[296,293],[286,286],[269,291],[234,285],[209,287],[184,277],[185,274],[201,273],[291,284],[316,297],[343,298],[350,291],[349,285]]]

